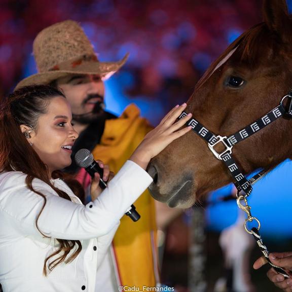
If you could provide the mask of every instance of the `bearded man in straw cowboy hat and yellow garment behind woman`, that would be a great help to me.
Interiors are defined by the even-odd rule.
[[[151,129],[133,104],[120,118],[103,110],[103,80],[113,75],[128,56],[118,62],[100,62],[81,26],[71,20],[42,30],[34,40],[33,54],[38,73],[19,82],[16,88],[31,84],[60,87],[71,104],[79,132],[73,153],[87,148],[95,159],[117,172]],[[76,164],[69,171],[78,173],[87,190],[89,175]],[[112,247],[97,270],[96,291],[116,292],[118,285],[142,290],[143,286],[155,287],[159,282],[154,201],[145,192],[135,207],[141,218],[135,223],[127,216],[122,218]]]

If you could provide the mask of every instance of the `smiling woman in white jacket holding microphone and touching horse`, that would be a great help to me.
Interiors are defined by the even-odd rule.
[[[151,184],[149,161],[186,134],[191,115],[175,106],[142,140],[104,191],[96,173],[92,201],[60,170],[78,134],[65,96],[46,85],[23,87],[0,108],[0,282],[3,291],[94,291],[96,271],[120,218]],[[107,166],[103,180],[112,177]]]

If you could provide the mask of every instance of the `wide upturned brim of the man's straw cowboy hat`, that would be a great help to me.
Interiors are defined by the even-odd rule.
[[[118,62],[87,62],[82,63],[70,70],[52,70],[43,73],[33,74],[23,80],[21,80],[15,87],[14,91],[29,85],[49,84],[52,81],[65,77],[68,74],[94,74],[100,75],[103,80],[111,77],[117,72],[127,61],[129,53]]]

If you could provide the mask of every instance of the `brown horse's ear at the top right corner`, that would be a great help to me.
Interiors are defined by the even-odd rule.
[[[292,22],[289,19],[286,0],[264,0],[263,15],[271,31],[277,32],[284,42],[291,40]]]

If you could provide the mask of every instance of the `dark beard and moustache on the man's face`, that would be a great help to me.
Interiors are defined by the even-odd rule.
[[[72,113],[72,120],[83,125],[87,125],[98,120],[103,120],[105,118],[104,112],[105,104],[103,102],[103,96],[98,94],[88,95],[88,97],[84,100],[82,105],[85,105],[86,102],[88,102],[90,99],[96,97],[99,97],[102,101],[97,101],[91,112],[81,115],[75,115]]]

